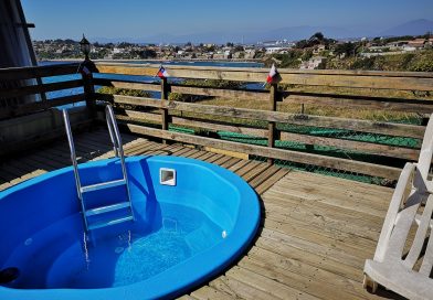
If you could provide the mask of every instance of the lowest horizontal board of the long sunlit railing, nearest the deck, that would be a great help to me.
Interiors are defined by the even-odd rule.
[[[120,122],[122,124],[122,122]],[[401,170],[398,168],[378,165],[367,162],[359,162],[347,159],[338,159],[332,157],[324,157],[318,154],[297,152],[291,150],[282,150],[276,148],[267,148],[262,146],[245,144],[240,142],[215,140],[212,138],[197,137],[186,133],[166,131],[161,129],[148,128],[131,124],[122,124],[124,128],[127,128],[130,132],[157,137],[167,140],[173,140],[179,142],[200,144],[205,147],[213,147],[222,150],[231,150],[253,156],[261,156],[273,159],[281,159],[286,161],[293,161],[305,164],[319,165],[336,170],[344,170],[349,172],[361,173],[366,175],[373,175],[379,178],[387,178],[397,180],[400,175]]]

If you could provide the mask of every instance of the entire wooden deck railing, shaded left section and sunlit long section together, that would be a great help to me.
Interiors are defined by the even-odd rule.
[[[146,75],[155,76],[159,65],[96,63],[94,72],[103,74]],[[172,77],[193,79],[224,79],[247,83],[264,83],[268,74],[266,68],[232,68],[232,67],[199,67],[199,66],[166,66]],[[74,74],[78,64],[53,65],[30,68],[0,69],[0,82],[8,79],[25,79],[55,75]],[[117,118],[123,128],[135,133],[159,138],[166,141],[179,141],[211,147],[222,150],[237,151],[251,156],[318,165],[331,170],[361,173],[372,176],[394,180],[400,173],[404,161],[418,159],[419,147],[403,147],[367,142],[338,137],[320,137],[279,130],[278,125],[307,126],[329,129],[345,129],[353,132],[403,137],[421,141],[424,126],[383,122],[367,119],[353,119],[306,114],[289,114],[277,110],[277,103],[323,105],[350,109],[379,109],[387,111],[415,113],[430,115],[433,113],[433,101],[419,98],[402,98],[383,96],[337,95],[332,88],[382,89],[403,92],[433,92],[432,73],[409,72],[358,72],[358,71],[298,71],[279,69],[282,81],[278,85],[302,85],[325,87],[326,92],[317,90],[281,90],[278,85],[268,89],[251,90],[242,88],[215,88],[197,85],[169,84],[167,81],[155,78],[154,83],[140,83],[123,79],[103,79],[83,77],[62,83],[42,84],[24,88],[0,89],[0,99],[19,97],[28,94],[44,93],[83,86],[85,93],[46,101],[8,105],[0,108],[0,120],[12,117],[46,111],[51,107],[72,104],[85,99],[92,114],[95,114],[95,100],[108,100],[117,107]],[[117,77],[116,77],[117,78]],[[94,93],[94,85],[114,86],[128,89],[160,92],[161,99],[149,97],[131,97]],[[324,89],[325,90],[325,89]],[[329,92],[330,90],[330,92]],[[184,103],[168,100],[170,93],[201,95],[243,100],[262,100],[267,109],[251,109],[240,107],[205,105],[202,103]],[[95,117],[95,115],[89,115]],[[213,116],[213,117],[212,117]],[[234,121],[236,120],[236,121]],[[241,121],[237,121],[241,120]],[[257,121],[261,126],[257,126]],[[149,126],[151,124],[151,126]],[[267,126],[265,126],[267,124]],[[155,126],[159,125],[159,126]],[[169,130],[170,125],[200,128],[208,131],[231,131],[267,139],[267,146],[233,142],[208,137],[193,136]],[[305,151],[294,151],[276,148],[276,141],[294,141],[306,146]],[[330,147],[366,153],[378,159],[366,162],[357,159],[323,156],[309,151],[311,146]],[[6,147],[8,148],[8,147]],[[1,153],[0,153],[1,154]],[[388,158],[388,162],[382,162]],[[389,159],[399,163],[391,165]]]

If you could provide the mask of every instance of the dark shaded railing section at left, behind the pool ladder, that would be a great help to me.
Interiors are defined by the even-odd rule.
[[[57,106],[86,101],[92,106],[92,74],[81,75],[83,64],[60,64],[36,67],[14,67],[0,69],[0,157],[29,149],[35,143],[44,143],[64,136],[64,126]],[[61,82],[42,83],[43,77],[75,75]],[[35,85],[22,86],[27,79],[39,79]],[[83,93],[74,93],[46,99],[45,93],[83,87]],[[65,93],[64,93],[65,94]],[[40,101],[23,103],[20,98],[41,95]],[[85,108],[85,107],[84,107]],[[87,109],[71,116],[74,128],[86,128],[92,122]]]

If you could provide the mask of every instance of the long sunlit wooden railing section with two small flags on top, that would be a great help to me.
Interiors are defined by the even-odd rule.
[[[157,65],[131,65],[131,64],[106,64],[97,63],[98,72],[105,74],[146,75],[155,76]],[[170,76],[180,78],[199,79],[224,79],[249,83],[264,83],[268,69],[264,68],[221,68],[221,67],[197,67],[197,66],[166,66]],[[358,72],[358,71],[298,71],[279,69],[282,81],[279,84],[296,84],[304,86],[350,87],[367,89],[398,89],[398,90],[422,90],[433,92],[433,74],[409,73],[409,72]],[[162,100],[130,97],[120,95],[96,95],[96,98],[113,101],[119,106],[148,107],[147,111],[123,109],[117,116],[124,120],[125,127],[136,133],[192,143],[204,147],[225,149],[244,152],[253,156],[265,157],[272,162],[273,159],[287,160],[296,163],[319,165],[329,169],[356,172],[386,179],[397,179],[400,169],[378,163],[368,163],[345,158],[319,156],[316,153],[285,150],[275,148],[275,140],[296,141],[309,146],[326,146],[337,149],[356,150],[358,152],[398,158],[402,161],[416,160],[418,148],[395,147],[358,140],[317,137],[294,132],[276,130],[275,124],[287,124],[297,126],[313,126],[318,128],[346,129],[356,132],[368,132],[384,136],[405,137],[422,139],[424,127],[418,125],[404,125],[395,122],[382,122],[362,119],[348,119],[339,117],[313,116],[305,114],[288,114],[276,111],[276,103],[315,104],[324,106],[387,109],[392,111],[405,111],[418,114],[433,113],[433,101],[418,99],[402,99],[395,97],[377,97],[359,95],[335,95],[330,93],[303,93],[289,90],[281,92],[276,85],[267,90],[245,89],[221,89],[214,87],[184,86],[181,84],[168,85],[166,81],[161,84],[133,83],[126,81],[95,79],[95,84],[103,86],[115,86],[120,88],[163,92]],[[168,101],[168,93],[181,93],[190,95],[215,96],[234,98],[237,100],[264,100],[268,101],[268,110],[213,106],[192,104],[183,101]],[[184,116],[187,114],[187,116]],[[243,120],[260,120],[268,124],[267,128],[257,128],[233,124],[230,121],[215,121],[209,117],[230,117]],[[160,129],[137,124],[159,122]],[[267,138],[268,147],[245,144],[226,140],[212,139],[209,137],[191,136],[181,132],[168,131],[168,125],[201,128],[210,131],[232,131]]]

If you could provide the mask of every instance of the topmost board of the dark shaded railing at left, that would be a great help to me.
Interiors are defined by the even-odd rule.
[[[46,66],[7,67],[0,68],[0,81],[20,81],[38,77],[51,77],[59,75],[75,74],[80,64],[59,64]]]

